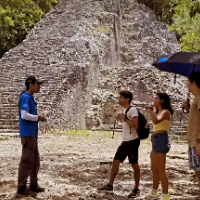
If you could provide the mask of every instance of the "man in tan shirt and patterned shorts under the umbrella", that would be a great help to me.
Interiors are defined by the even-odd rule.
[[[194,95],[191,105],[184,103],[189,112],[187,139],[189,144],[189,164],[196,173],[200,187],[200,72],[192,72],[188,78],[188,89]]]

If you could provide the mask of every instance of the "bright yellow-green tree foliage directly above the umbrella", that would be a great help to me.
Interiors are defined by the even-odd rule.
[[[171,31],[175,31],[183,51],[200,51],[199,1],[179,0],[173,8]]]

